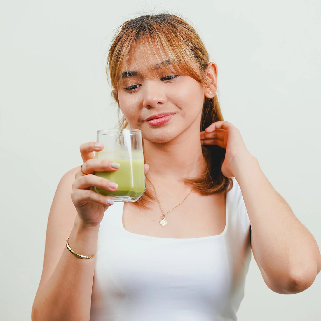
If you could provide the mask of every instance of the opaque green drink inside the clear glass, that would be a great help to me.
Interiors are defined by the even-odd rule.
[[[143,195],[146,190],[143,153],[133,152],[132,160],[129,160],[126,156],[128,155],[126,155],[125,153],[119,154],[116,152],[112,154],[107,152],[98,153],[98,155],[96,156],[97,158],[112,160],[113,162],[120,164],[120,167],[115,172],[95,172],[95,175],[107,178],[110,181],[117,183],[117,191],[111,192],[102,188],[92,187],[95,192],[105,196],[109,196],[111,198],[117,196],[125,196],[124,200],[137,200],[141,195]],[[124,159],[125,157],[127,159]]]

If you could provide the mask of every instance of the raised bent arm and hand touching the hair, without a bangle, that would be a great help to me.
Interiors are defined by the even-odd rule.
[[[226,149],[222,173],[234,176],[241,188],[253,255],[267,286],[284,294],[307,289],[321,269],[317,242],[269,183],[239,130],[218,121],[201,132],[201,140]]]

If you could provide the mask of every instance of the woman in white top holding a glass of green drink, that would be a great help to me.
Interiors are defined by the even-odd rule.
[[[125,22],[108,67],[122,126],[142,131],[147,191],[113,204],[90,190],[116,190],[92,173],[119,166],[81,145],[50,210],[32,319],[236,320],[251,248],[271,290],[307,289],[317,243],[223,121],[195,30],[170,14]]]

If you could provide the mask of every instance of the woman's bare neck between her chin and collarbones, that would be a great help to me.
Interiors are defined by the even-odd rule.
[[[205,165],[200,137],[187,133],[167,143],[144,140],[144,157],[150,166],[149,176],[157,180],[197,177]]]

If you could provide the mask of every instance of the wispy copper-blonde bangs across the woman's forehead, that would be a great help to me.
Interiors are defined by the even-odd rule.
[[[110,79],[116,91],[119,86],[124,87],[121,75],[130,72],[133,59],[135,66],[144,76],[159,76],[160,72],[175,71],[205,84],[204,68],[200,67],[196,54],[189,47],[187,40],[171,26],[152,23],[148,27],[143,25],[128,32],[129,34],[126,37],[123,35],[122,41],[117,43],[114,61],[110,60],[109,63]],[[140,59],[137,59],[138,56]],[[115,60],[117,64],[114,64]],[[115,66],[114,70],[112,65]]]

